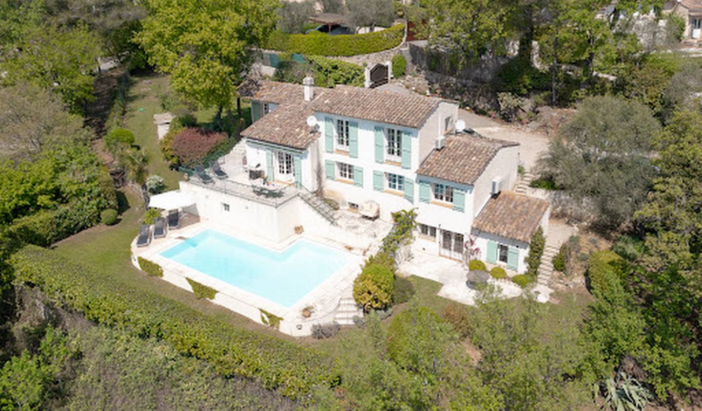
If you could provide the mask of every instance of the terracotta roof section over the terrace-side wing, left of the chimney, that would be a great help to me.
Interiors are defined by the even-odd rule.
[[[319,132],[307,126],[312,111],[301,105],[284,104],[251,124],[241,136],[305,150],[319,137]]]

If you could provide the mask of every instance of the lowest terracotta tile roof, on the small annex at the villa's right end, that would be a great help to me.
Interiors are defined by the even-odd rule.
[[[526,195],[503,191],[488,200],[473,222],[473,229],[529,242],[550,203]]]

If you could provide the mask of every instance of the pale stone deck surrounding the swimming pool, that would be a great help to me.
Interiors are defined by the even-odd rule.
[[[231,235],[232,237],[237,237],[275,252],[281,252],[297,240],[305,239],[347,253],[348,256],[350,256],[350,262],[340,270],[337,270],[336,273],[330,275],[329,278],[326,278],[322,284],[312,289],[312,291],[298,300],[296,304],[293,304],[291,307],[285,307],[274,301],[265,299],[262,296],[247,292],[244,289],[235,287],[227,282],[223,282],[222,280],[218,280],[198,270],[194,270],[193,268],[161,256],[161,252],[164,252],[166,249],[179,244],[187,238],[194,237],[205,230],[215,230],[226,235]],[[192,289],[190,283],[185,280],[186,277],[207,285],[208,287],[213,287],[218,290],[215,298],[212,300],[214,304],[224,306],[259,323],[263,323],[260,312],[260,310],[263,309],[283,319],[280,322],[279,331],[295,337],[310,335],[312,324],[321,324],[333,320],[340,300],[351,297],[353,280],[360,272],[360,267],[364,261],[361,250],[350,250],[348,247],[345,247],[344,244],[334,242],[333,240],[303,234],[292,235],[283,242],[276,243],[252,235],[251,233],[237,230],[237,228],[234,227],[214,225],[208,221],[201,221],[184,228],[170,230],[166,237],[153,239],[151,244],[147,247],[136,247],[135,239],[131,244],[131,251],[132,263],[137,268],[139,268],[138,257],[142,257],[159,264],[159,266],[163,268],[163,280],[171,282],[171,284],[186,289],[187,291],[192,291]],[[275,284],[271,285],[271,287],[275,286]],[[307,306],[313,306],[314,311],[310,318],[303,318],[302,311],[303,308]]]

